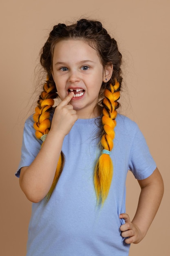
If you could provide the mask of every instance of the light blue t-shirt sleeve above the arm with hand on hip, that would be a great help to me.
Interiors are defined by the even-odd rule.
[[[144,180],[155,171],[157,166],[150,154],[146,139],[137,125],[136,128],[130,150],[129,170],[138,180]]]

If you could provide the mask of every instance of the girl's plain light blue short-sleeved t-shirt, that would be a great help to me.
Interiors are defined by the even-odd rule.
[[[97,205],[93,170],[100,155],[99,119],[78,119],[64,138],[65,165],[49,202],[32,204],[27,256],[128,256],[129,247],[121,237],[119,219],[125,213],[126,175],[138,180],[156,168],[137,124],[117,115],[113,180],[104,206]],[[24,127],[20,168],[29,166],[41,141],[35,138],[32,116]]]

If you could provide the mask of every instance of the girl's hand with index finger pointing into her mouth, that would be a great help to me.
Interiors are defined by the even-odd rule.
[[[73,109],[71,104],[68,104],[73,98],[74,93],[71,92],[68,96],[62,100],[53,115],[53,120],[51,123],[50,132],[55,132],[56,130],[60,132],[64,137],[70,132],[75,121],[78,119],[76,110]]]

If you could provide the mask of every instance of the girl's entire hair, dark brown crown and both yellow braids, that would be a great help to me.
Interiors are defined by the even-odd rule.
[[[113,149],[113,139],[115,137],[114,128],[116,126],[116,109],[119,108],[117,101],[120,96],[121,88],[121,53],[118,50],[117,42],[111,38],[102,23],[95,20],[81,19],[77,23],[66,26],[58,24],[53,27],[44,47],[40,52],[40,63],[44,68],[47,79],[43,91],[38,99],[38,106],[35,108],[34,128],[35,136],[44,140],[51,127],[50,113],[54,111],[53,104],[58,97],[55,82],[52,76],[53,69],[53,50],[61,40],[77,39],[84,40],[98,53],[103,65],[113,65],[113,73],[109,81],[102,82],[99,98],[102,99],[102,132],[101,146],[102,154],[99,157],[94,170],[94,186],[97,200],[102,204],[107,198],[113,176],[113,164],[110,158],[110,151]],[[64,154],[61,152],[57,164],[55,177],[49,193],[46,195],[48,201],[55,185],[60,177],[64,166]]]

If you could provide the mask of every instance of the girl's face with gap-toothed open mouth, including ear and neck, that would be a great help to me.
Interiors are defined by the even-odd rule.
[[[79,118],[99,115],[95,108],[102,81],[110,79],[112,65],[102,66],[97,51],[83,40],[62,40],[53,52],[53,79],[61,100],[74,92],[70,104]]]

